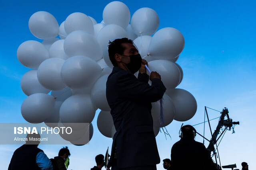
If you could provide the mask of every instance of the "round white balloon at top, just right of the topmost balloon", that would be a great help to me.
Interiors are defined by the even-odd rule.
[[[152,35],[159,26],[159,17],[151,8],[140,8],[132,15],[131,26],[136,35]]]

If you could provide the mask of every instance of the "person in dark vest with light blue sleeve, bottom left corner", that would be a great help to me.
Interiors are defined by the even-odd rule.
[[[50,159],[38,148],[40,135],[28,134],[26,139],[26,144],[14,151],[8,170],[52,170]]]

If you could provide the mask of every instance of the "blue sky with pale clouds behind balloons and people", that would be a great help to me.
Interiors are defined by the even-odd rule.
[[[0,123],[26,122],[20,106],[26,95],[20,88],[22,75],[29,70],[19,63],[16,51],[27,40],[42,41],[28,29],[28,20],[37,11],[50,12],[59,25],[73,12],[82,12],[102,21],[104,7],[111,1],[1,1],[1,45],[0,45]],[[198,109],[196,115],[186,122],[173,121],[166,128],[171,139],[159,133],[156,137],[161,160],[170,158],[172,145],[179,140],[180,125],[195,125],[204,121],[204,106],[217,110],[227,107],[230,117],[240,121],[236,133],[226,133],[219,145],[222,165],[234,164],[241,169],[241,162],[248,162],[250,169],[256,169],[254,154],[256,147],[256,1],[248,0],[177,0],[146,1],[124,0],[132,14],[142,7],[155,10],[160,18],[158,29],[174,27],[184,36],[185,47],[177,63],[182,67],[184,78],[177,88],[194,95]],[[211,118],[219,117],[216,111],[209,111]],[[89,145],[70,145],[70,168],[89,169],[95,164],[97,154],[105,154],[112,139],[104,137],[97,129],[96,119],[92,122],[94,135]],[[215,129],[218,120],[211,121]],[[206,126],[207,127],[207,126]],[[203,124],[195,126],[203,133]],[[208,127],[206,136],[210,138]],[[196,141],[202,142],[201,137]],[[205,143],[206,147],[208,143]],[[12,153],[18,145],[0,145],[0,164],[7,169]],[[62,147],[40,145],[40,149],[53,158]],[[162,162],[157,165],[159,170]]]

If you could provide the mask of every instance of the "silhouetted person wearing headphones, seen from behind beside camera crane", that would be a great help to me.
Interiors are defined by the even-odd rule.
[[[171,170],[217,170],[204,144],[196,142],[196,129],[181,128],[181,139],[172,146]]]

